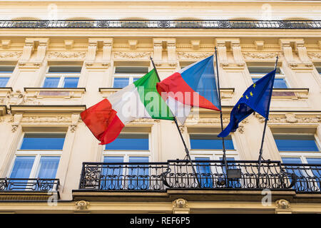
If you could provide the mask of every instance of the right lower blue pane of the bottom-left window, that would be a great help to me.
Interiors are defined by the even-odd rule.
[[[39,178],[56,178],[60,157],[43,156],[40,158]]]

